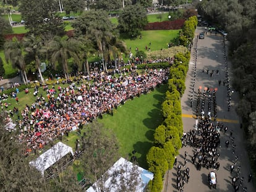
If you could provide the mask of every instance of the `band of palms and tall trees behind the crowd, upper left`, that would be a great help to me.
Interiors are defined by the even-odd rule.
[[[20,3],[20,12],[26,21],[25,28],[28,33],[22,41],[7,41],[4,52],[6,60],[20,70],[25,84],[28,81],[28,70],[37,72],[44,83],[40,71],[41,62],[46,62],[54,70],[61,70],[65,78],[69,78],[70,73],[75,70],[83,69],[84,72],[90,73],[88,58],[94,55],[101,58],[103,70],[107,70],[112,61],[117,67],[122,54],[127,53],[126,44],[120,40],[119,32],[132,38],[139,35],[140,30],[147,24],[146,10],[140,4],[127,6],[122,10],[118,27],[110,22],[106,11],[90,10],[83,12],[72,22],[74,36],[67,37],[63,36],[64,23],[56,14],[56,1],[30,3],[28,0],[22,0]],[[3,24],[0,30],[1,46],[4,34],[11,28],[1,17],[0,23]],[[14,55],[13,52],[17,54]]]

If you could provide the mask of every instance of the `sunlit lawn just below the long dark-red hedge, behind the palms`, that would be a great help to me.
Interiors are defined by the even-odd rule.
[[[141,40],[138,37],[134,40],[124,40],[124,42],[127,45],[127,49],[131,48],[132,53],[135,54],[136,47],[143,51],[146,51],[145,46],[150,48],[151,51],[160,50],[161,48],[167,49],[168,43],[177,37],[179,37],[179,30],[152,30],[142,31]]]

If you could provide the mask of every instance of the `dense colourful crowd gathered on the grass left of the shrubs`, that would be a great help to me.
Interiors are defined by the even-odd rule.
[[[168,73],[169,69],[148,69],[139,75],[131,70],[116,77],[95,71],[76,82],[69,81],[67,88],[62,88],[61,83],[55,85],[58,87],[43,86],[47,98],[35,91],[36,101],[30,106],[26,104],[22,118],[18,116],[18,139],[27,144],[28,152],[43,148],[49,141],[68,135],[70,130],[104,113],[113,114],[113,109],[127,99],[154,90],[167,82]],[[11,119],[10,114],[7,119]]]

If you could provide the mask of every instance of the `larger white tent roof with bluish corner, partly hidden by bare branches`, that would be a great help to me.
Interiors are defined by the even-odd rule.
[[[120,171],[120,169],[124,170],[125,172]],[[139,173],[139,177],[135,178],[137,179],[135,183],[138,183],[138,185],[134,185],[133,190],[136,192],[143,192],[148,182],[153,179],[153,173],[132,164],[132,162],[129,162],[122,157],[107,171],[109,177],[106,179],[106,182],[103,183],[103,188],[108,188],[108,191],[111,192],[118,191],[118,187],[122,185],[121,182],[123,182],[121,177],[132,177],[132,172],[134,172],[134,169]],[[114,183],[113,180],[115,181]],[[131,183],[127,184],[131,185]],[[87,192],[100,192],[99,188],[98,182],[95,182],[90,188],[88,188]]]

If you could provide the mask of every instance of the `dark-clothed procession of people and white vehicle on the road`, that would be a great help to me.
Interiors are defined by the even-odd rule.
[[[194,44],[194,73],[192,73],[192,80],[194,77],[194,81],[192,81],[192,95],[190,98],[190,107],[193,107],[193,96],[195,89],[195,80],[197,78],[197,39],[195,39]],[[228,61],[226,57],[226,49],[225,49],[225,40],[223,39],[223,53],[224,53],[224,69],[225,69],[225,80],[223,81],[223,85],[228,87],[228,111],[231,106],[231,88],[229,85],[229,75],[228,75]],[[202,73],[210,74],[210,77],[215,75],[214,70],[209,70]],[[219,74],[219,71],[216,70],[216,75]],[[219,85],[221,85],[221,81],[219,80]],[[195,120],[195,126],[189,131],[184,132],[182,136],[182,147],[190,147],[192,148],[193,154],[191,155],[192,165],[195,166],[197,170],[203,169],[209,170],[208,174],[208,186],[209,188],[213,187],[216,189],[217,180],[216,180],[216,172],[220,168],[220,161],[218,160],[221,152],[221,137],[228,137],[226,141],[224,141],[226,148],[228,151],[231,151],[233,157],[232,163],[230,165],[230,173],[231,173],[231,183],[233,185],[234,191],[247,191],[247,184],[245,181],[245,175],[241,171],[241,164],[239,161],[239,156],[236,152],[236,142],[233,135],[233,130],[228,130],[228,126],[224,126],[221,122],[213,122],[211,121],[211,109],[213,104],[213,112],[214,117],[216,118],[217,112],[217,104],[216,104],[216,90],[210,90],[209,88],[205,88],[203,91],[202,87],[198,88],[197,93],[197,104],[195,105],[195,114],[200,117]],[[207,109],[208,102],[208,114],[205,113]],[[216,119],[215,119],[216,120]],[[174,161],[174,169],[177,171],[176,175],[176,188],[178,191],[184,191],[184,185],[189,181],[189,177],[187,176],[187,169],[189,168],[187,164],[187,151],[184,156],[181,156],[184,159],[184,164],[177,165],[177,158]],[[176,167],[177,165],[177,167]],[[182,165],[184,166],[184,170],[181,170]],[[229,166],[229,165],[228,165]],[[228,167],[229,168],[229,167]],[[217,172],[218,173],[218,172]],[[245,173],[246,174],[246,173]],[[252,181],[252,173],[249,173],[247,182]]]

